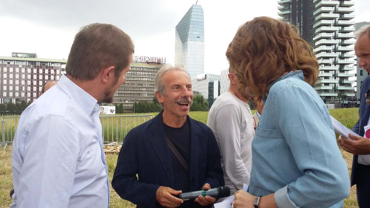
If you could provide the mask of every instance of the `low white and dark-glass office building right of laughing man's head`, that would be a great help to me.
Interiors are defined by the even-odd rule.
[[[191,78],[193,92],[203,95],[204,99],[208,101],[209,107],[220,95],[220,79],[221,76],[217,74],[199,74],[197,77]]]

